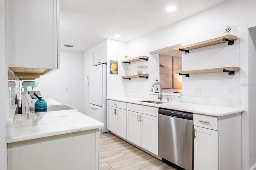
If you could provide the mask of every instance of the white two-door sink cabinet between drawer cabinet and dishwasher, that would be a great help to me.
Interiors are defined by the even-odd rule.
[[[127,140],[156,155],[158,154],[157,107],[127,104]]]

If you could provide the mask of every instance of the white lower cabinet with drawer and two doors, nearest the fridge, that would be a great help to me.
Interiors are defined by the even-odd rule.
[[[126,103],[107,100],[107,129],[126,139]]]

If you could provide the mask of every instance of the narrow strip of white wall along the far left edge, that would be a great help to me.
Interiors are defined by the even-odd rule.
[[[0,0],[0,170],[7,169],[6,147],[6,113],[9,105],[6,103],[7,67],[5,65],[5,7]]]

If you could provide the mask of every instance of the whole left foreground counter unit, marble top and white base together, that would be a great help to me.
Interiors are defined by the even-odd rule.
[[[12,115],[8,170],[99,168],[98,128],[103,123],[75,109]]]

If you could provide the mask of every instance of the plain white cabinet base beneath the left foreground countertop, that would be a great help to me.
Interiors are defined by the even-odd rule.
[[[7,170],[98,170],[99,130],[7,144]]]

